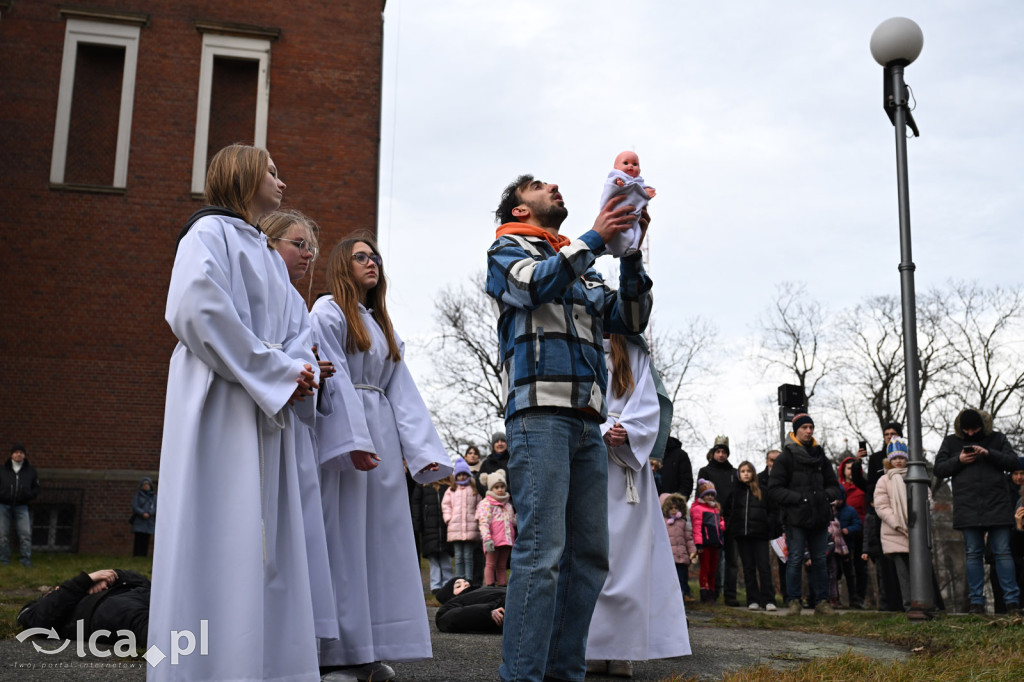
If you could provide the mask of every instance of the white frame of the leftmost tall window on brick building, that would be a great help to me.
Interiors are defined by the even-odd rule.
[[[125,49],[124,74],[121,78],[121,110],[118,116],[118,141],[111,186],[123,189],[127,185],[139,33],[139,26],[68,18],[65,28],[63,60],[60,63],[57,117],[53,127],[53,156],[50,160],[50,182],[53,184],[65,184],[65,166],[68,162],[68,136],[71,130],[71,105],[75,89],[78,46],[80,43],[85,43],[88,45],[113,45]]]

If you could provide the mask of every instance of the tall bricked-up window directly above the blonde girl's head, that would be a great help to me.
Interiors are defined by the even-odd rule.
[[[200,31],[211,30],[197,25]],[[191,191],[202,195],[210,157],[232,142],[266,146],[270,102],[270,39],[274,30],[252,36],[203,34],[193,151]]]

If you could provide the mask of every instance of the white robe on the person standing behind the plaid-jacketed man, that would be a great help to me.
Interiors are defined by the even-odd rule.
[[[609,456],[608,578],[590,623],[588,660],[649,660],[690,653],[683,594],[648,463],[657,437],[657,392],[648,355],[633,344],[627,349],[636,387],[615,397],[608,367],[608,419],[601,431],[618,422],[629,434],[628,443],[609,450],[633,471],[640,502],[626,501],[626,471]]]

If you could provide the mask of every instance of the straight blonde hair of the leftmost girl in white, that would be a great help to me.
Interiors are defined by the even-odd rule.
[[[250,224],[260,217],[253,215],[253,201],[270,167],[270,155],[248,144],[228,144],[210,160],[206,171],[207,204],[231,209]]]

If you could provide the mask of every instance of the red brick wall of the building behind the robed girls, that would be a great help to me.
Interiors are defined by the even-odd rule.
[[[267,147],[288,183],[284,206],[321,223],[329,252],[349,231],[376,229],[383,2],[91,1],[150,14],[122,194],[49,186],[61,6],[15,2],[0,17],[0,452],[19,440],[40,468],[151,471],[175,343],[163,322],[174,239],[202,206],[189,191],[203,42],[195,22],[281,30]],[[85,487],[81,551],[130,550],[134,486]],[[94,503],[125,495],[110,515]]]

